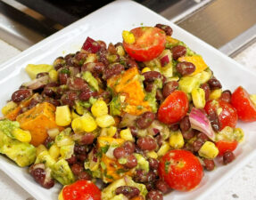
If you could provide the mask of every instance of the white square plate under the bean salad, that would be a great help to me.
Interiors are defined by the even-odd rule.
[[[168,24],[174,30],[174,37],[184,41],[192,50],[202,55],[205,62],[219,78],[224,89],[234,89],[243,85],[249,92],[256,93],[256,75],[228,58],[223,53],[205,44],[199,38],[192,36],[182,28],[162,18],[140,4],[131,1],[116,1],[91,13],[82,20],[78,20],[53,36],[21,52],[17,57],[8,60],[0,67],[0,107],[2,108],[11,98],[12,92],[17,90],[21,83],[29,81],[24,68],[27,64],[52,64],[54,59],[69,52],[77,52],[87,36],[106,43],[117,43],[121,39],[121,31],[136,28],[141,25],[154,26],[156,23]],[[245,132],[244,144],[236,150],[239,155],[232,164],[219,166],[214,172],[205,172],[201,185],[191,192],[172,192],[164,199],[203,199],[215,188],[227,180],[236,170],[248,163],[255,155],[256,132],[255,123],[238,124]],[[52,189],[41,188],[32,180],[28,169],[21,169],[9,159],[0,156],[0,169],[6,172],[13,180],[25,188],[38,200],[57,199],[60,185]]]

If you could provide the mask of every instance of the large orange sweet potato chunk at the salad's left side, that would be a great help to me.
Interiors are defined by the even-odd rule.
[[[47,130],[58,128],[55,123],[55,109],[54,105],[43,102],[17,116],[16,120],[21,128],[31,133],[32,145],[37,147],[42,144],[48,136]]]

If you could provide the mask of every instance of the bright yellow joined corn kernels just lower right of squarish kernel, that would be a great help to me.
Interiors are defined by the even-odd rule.
[[[88,113],[73,119],[71,126],[74,132],[93,132],[97,128],[94,117]]]

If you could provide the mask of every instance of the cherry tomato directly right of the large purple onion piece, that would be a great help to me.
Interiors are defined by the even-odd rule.
[[[237,123],[237,113],[231,104],[223,100],[209,100],[204,110],[209,115],[211,112],[216,112],[219,118],[220,130],[224,127],[229,126],[235,128]]]

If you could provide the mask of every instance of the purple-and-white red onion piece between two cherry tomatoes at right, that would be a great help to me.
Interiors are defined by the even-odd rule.
[[[215,132],[212,130],[211,123],[202,109],[192,108],[189,121],[193,129],[203,132],[211,140],[215,140]]]

